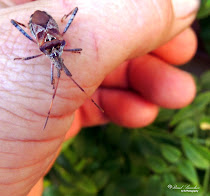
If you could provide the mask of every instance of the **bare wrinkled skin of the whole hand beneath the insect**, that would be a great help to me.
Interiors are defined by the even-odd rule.
[[[0,10],[1,195],[41,195],[42,178],[62,142],[84,126],[112,121],[142,127],[154,121],[160,106],[181,108],[194,99],[191,75],[171,64],[186,63],[195,54],[197,40],[189,26],[196,10],[175,17],[168,0],[10,2],[20,5],[2,3],[6,9]],[[62,73],[52,115],[42,131],[53,92],[50,62],[45,56],[13,60],[40,52],[9,20],[27,24],[30,15],[44,7],[64,29],[67,21],[60,19],[75,6],[78,14],[64,38],[66,48],[83,51],[63,54],[64,63],[89,95],[98,88],[92,97],[105,113]]]

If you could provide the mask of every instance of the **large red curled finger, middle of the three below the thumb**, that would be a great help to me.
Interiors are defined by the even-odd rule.
[[[195,97],[196,87],[190,74],[151,55],[131,61],[128,72],[130,86],[159,106],[180,108]]]

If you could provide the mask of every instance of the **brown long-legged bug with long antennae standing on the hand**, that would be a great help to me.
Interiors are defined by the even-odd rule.
[[[35,40],[27,34],[23,28],[26,26],[20,22],[17,22],[15,20],[11,20],[11,23],[29,40],[32,42],[38,44],[41,54],[24,57],[24,58],[15,58],[14,60],[30,60],[37,57],[40,57],[42,55],[46,55],[51,60],[51,85],[53,86],[54,92],[51,99],[51,104],[48,110],[48,114],[45,120],[45,124],[43,127],[43,130],[46,128],[48,119],[50,117],[53,101],[56,95],[56,91],[58,88],[59,79],[61,76],[61,71],[63,70],[65,74],[70,77],[70,79],[74,82],[74,84],[79,87],[79,89],[85,93],[86,91],[73,79],[71,72],[68,70],[68,68],[64,65],[63,59],[61,58],[61,55],[63,52],[73,52],[73,53],[80,53],[82,51],[81,48],[73,48],[73,49],[64,49],[64,46],[66,44],[65,40],[63,39],[64,34],[69,29],[70,25],[72,24],[74,17],[76,16],[78,11],[78,8],[74,8],[69,14],[64,15],[61,21],[66,19],[70,16],[68,23],[66,27],[64,28],[63,33],[59,32],[58,24],[56,21],[47,14],[45,11],[37,10],[35,11],[29,20],[28,26],[31,31],[31,34],[34,36]],[[57,69],[57,83],[55,85],[55,79],[54,79],[54,67]],[[88,96],[88,95],[87,95]],[[96,107],[99,108],[102,112],[104,110],[92,99],[90,100],[96,105]]]

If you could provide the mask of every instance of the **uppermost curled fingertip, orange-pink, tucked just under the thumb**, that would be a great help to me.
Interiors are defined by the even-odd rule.
[[[195,32],[188,28],[152,53],[169,64],[182,65],[192,59],[196,49],[197,38]]]

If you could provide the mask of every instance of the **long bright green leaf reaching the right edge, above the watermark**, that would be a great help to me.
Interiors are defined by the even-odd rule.
[[[200,154],[195,145],[188,139],[182,139],[182,148],[193,165],[200,169],[207,169],[209,167],[209,161]]]

